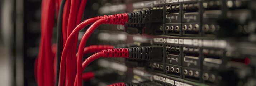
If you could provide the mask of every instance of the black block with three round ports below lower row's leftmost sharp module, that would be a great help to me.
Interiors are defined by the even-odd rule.
[[[165,71],[168,76],[182,78],[182,66],[165,64]]]

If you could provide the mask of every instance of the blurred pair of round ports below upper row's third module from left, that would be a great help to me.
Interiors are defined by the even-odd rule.
[[[219,25],[205,24],[205,25],[202,26],[202,28],[203,28],[202,29],[203,32],[215,32],[215,31],[218,31],[220,27],[219,27]]]

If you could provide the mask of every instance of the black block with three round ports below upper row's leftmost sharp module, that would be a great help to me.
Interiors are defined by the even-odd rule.
[[[182,35],[181,23],[165,23],[165,35]]]

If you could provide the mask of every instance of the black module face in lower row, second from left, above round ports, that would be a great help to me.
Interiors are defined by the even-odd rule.
[[[183,49],[183,62],[182,66],[190,68],[202,68],[202,53],[201,48],[192,46],[182,46]]]

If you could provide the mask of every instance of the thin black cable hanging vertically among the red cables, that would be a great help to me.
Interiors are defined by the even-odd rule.
[[[56,68],[56,82],[55,86],[58,86],[59,82],[59,73],[60,73],[60,62],[61,62],[61,54],[63,50],[63,37],[62,37],[62,16],[63,16],[63,9],[66,0],[61,0],[61,5],[58,14],[57,20],[57,68]]]

